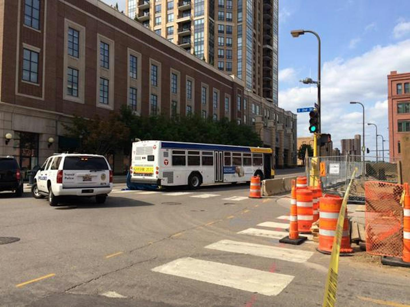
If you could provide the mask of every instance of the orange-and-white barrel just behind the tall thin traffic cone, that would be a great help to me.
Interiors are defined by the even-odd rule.
[[[313,223],[313,193],[307,188],[296,189],[299,233],[310,233]]]

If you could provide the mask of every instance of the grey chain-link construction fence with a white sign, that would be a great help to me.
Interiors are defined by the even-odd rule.
[[[307,178],[316,178],[322,183],[325,193],[344,195],[353,171],[357,168],[351,185],[349,201],[364,203],[364,184],[366,181],[397,183],[397,164],[376,160],[366,156],[326,156],[309,157],[305,163]],[[312,172],[317,169],[316,172]]]

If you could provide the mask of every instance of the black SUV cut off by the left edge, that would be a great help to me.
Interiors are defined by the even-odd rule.
[[[0,192],[14,191],[16,196],[23,195],[23,177],[20,167],[13,157],[0,157]]]

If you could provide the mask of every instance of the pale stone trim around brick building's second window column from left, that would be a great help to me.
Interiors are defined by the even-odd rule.
[[[72,28],[79,32],[78,40],[78,58],[68,54],[68,28]],[[99,49],[98,49],[99,52]],[[68,68],[74,68],[78,70],[78,96],[68,95],[67,83],[68,75],[66,71]],[[99,80],[99,79],[98,79]],[[98,83],[99,84],[99,83]],[[63,77],[63,100],[77,102],[80,104],[85,103],[85,27],[75,23],[67,18],[64,18],[64,77]],[[99,87],[98,87],[99,88]],[[98,97],[99,97],[98,93]]]

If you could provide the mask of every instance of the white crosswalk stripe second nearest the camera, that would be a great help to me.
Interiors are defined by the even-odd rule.
[[[221,240],[205,246],[205,248],[298,263],[306,262],[313,255],[313,253],[309,251],[231,240]]]

